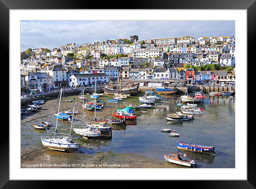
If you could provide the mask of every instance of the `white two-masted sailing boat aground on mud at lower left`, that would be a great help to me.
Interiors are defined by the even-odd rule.
[[[60,90],[58,114],[59,114],[59,110],[60,110],[61,95],[62,95],[62,89]],[[57,101],[56,101],[56,103],[57,103]],[[75,105],[74,105],[73,112],[74,112],[74,110],[75,110]],[[74,152],[75,150],[77,150],[80,147],[80,144],[73,142],[72,138],[71,138],[73,117],[74,117],[74,115],[72,116],[72,122],[71,122],[69,136],[63,136],[62,138],[56,137],[56,135],[58,134],[58,132],[57,132],[58,119],[56,119],[56,126],[55,126],[54,137],[53,138],[45,138],[44,136],[42,136],[41,137],[42,144],[46,148],[49,148],[49,149],[52,149],[52,150],[67,151],[67,152]]]

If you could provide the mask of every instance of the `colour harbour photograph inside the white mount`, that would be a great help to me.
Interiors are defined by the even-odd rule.
[[[236,168],[236,20],[30,18],[20,169]]]

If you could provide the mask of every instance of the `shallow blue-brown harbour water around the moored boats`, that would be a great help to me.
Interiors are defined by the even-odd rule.
[[[86,95],[90,99],[89,95]],[[76,96],[68,96],[65,99],[75,98],[75,110],[79,110],[73,126],[83,126],[83,101],[79,101]],[[100,98],[107,103],[108,99],[113,99],[113,95],[105,95]],[[21,151],[29,149],[41,149],[40,136],[43,130],[33,127],[40,121],[49,121],[56,100],[46,100],[43,109],[31,114],[21,115]],[[74,102],[61,103],[62,109],[72,110]],[[96,118],[106,119],[116,111],[125,108],[125,105],[141,104],[138,97],[133,96],[120,104],[106,104],[103,110],[96,111]],[[112,139],[83,139],[73,133],[74,141],[80,143],[77,153],[95,155],[99,151],[112,150],[114,153],[132,153],[148,156],[149,158],[163,159],[164,154],[179,153],[181,157],[195,160],[198,168],[235,168],[235,97],[234,96],[206,96],[205,103],[198,104],[202,109],[202,115],[195,115],[194,120],[189,121],[167,121],[166,115],[179,110],[182,103],[180,95],[163,95],[163,100],[156,103],[152,109],[142,109],[135,111],[136,121],[127,121],[127,126],[112,125]],[[28,106],[21,105],[21,109]],[[113,117],[113,115],[112,115]],[[85,111],[85,120],[93,120],[94,112]],[[56,124],[53,116],[50,123]],[[70,129],[69,121],[58,121],[58,133],[68,134]],[[179,138],[170,137],[168,133],[162,133],[162,128],[176,130],[180,134]],[[54,128],[47,132],[50,136],[54,134]],[[183,136],[181,136],[183,134]],[[189,151],[177,149],[177,141],[215,146],[216,155],[197,154]],[[184,155],[186,157],[184,157]],[[68,158],[69,155],[65,155]],[[51,158],[51,157],[48,157]],[[76,162],[79,163],[79,162]]]

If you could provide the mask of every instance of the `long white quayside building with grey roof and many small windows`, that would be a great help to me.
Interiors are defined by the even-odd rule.
[[[69,86],[92,85],[109,81],[107,74],[73,74],[69,77]]]

